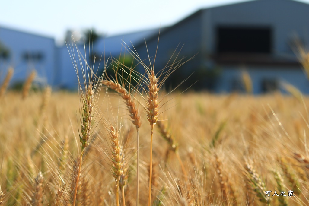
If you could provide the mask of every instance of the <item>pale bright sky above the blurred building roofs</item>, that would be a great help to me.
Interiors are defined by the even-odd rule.
[[[54,37],[61,43],[69,28],[93,27],[115,35],[170,26],[198,9],[236,2],[244,0],[1,0],[0,27]]]

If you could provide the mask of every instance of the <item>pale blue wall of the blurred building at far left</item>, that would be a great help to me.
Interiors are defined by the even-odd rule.
[[[56,67],[53,38],[0,27],[0,41],[10,50],[10,57],[6,61],[0,61],[2,74],[6,74],[8,66],[15,69],[11,84],[24,81],[34,69],[37,71],[37,81],[54,85],[59,70]],[[25,53],[41,53],[43,57],[41,60],[25,60]]]

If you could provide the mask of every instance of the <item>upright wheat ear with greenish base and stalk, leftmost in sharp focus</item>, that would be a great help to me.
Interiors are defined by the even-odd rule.
[[[79,169],[77,173],[76,185],[74,190],[74,197],[72,205],[75,205],[76,194],[77,194],[77,187],[78,187],[78,180],[79,174],[82,166],[82,159],[83,154],[85,153],[85,148],[89,145],[90,141],[90,134],[91,134],[91,120],[92,120],[92,108],[94,104],[94,90],[92,84],[89,83],[87,86],[86,94],[83,97],[83,124],[82,124],[82,136],[79,137],[79,141],[81,143],[81,153],[80,153],[80,160],[79,160]]]

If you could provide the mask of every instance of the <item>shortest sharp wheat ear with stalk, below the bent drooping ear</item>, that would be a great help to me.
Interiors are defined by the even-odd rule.
[[[121,145],[120,140],[118,136],[117,130],[113,126],[110,126],[109,129],[111,142],[112,142],[112,170],[113,170],[113,177],[116,181],[116,203],[117,206],[119,206],[119,185],[121,180],[121,175],[123,174],[122,170],[122,151],[121,151]]]

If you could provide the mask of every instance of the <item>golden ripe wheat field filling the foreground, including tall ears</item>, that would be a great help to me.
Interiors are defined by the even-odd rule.
[[[308,97],[250,95],[246,73],[248,94],[170,93],[183,63],[155,73],[131,54],[144,74],[112,60],[114,78],[98,77],[85,61],[78,92],[35,91],[34,71],[7,91],[8,70],[0,205],[309,205]]]

